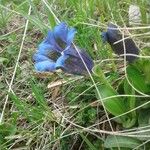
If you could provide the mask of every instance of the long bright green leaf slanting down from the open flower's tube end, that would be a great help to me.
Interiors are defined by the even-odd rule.
[[[109,111],[114,116],[118,116],[127,112],[126,106],[124,105],[124,99],[117,97],[117,95],[119,94],[108,82],[102,69],[98,66],[98,67],[95,67],[93,71],[96,77],[98,77],[99,82],[103,83],[98,86],[99,93],[97,93],[97,98],[104,99],[107,97],[112,97],[112,98],[103,100],[106,110]],[[126,120],[128,120],[128,115],[124,115],[118,118],[119,122],[120,122],[120,119],[122,123],[125,123]]]

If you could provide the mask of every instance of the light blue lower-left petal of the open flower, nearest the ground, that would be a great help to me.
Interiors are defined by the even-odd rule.
[[[45,60],[42,62],[35,63],[34,67],[37,71],[40,72],[55,71],[55,62]]]

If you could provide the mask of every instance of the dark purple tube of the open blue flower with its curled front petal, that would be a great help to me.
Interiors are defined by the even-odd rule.
[[[56,61],[56,68],[61,68],[63,71],[71,74],[83,74],[87,75],[87,69],[91,72],[93,68],[93,61],[88,54],[78,48],[78,52],[75,48],[70,47],[64,51]],[[82,58],[82,59],[81,59]],[[83,63],[84,61],[84,63]],[[86,67],[85,67],[86,65]]]

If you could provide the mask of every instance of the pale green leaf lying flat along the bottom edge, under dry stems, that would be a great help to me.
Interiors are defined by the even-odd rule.
[[[131,138],[131,137],[123,137],[123,136],[115,136],[109,135],[105,142],[105,148],[115,148],[115,147],[124,147],[124,148],[135,148],[142,144],[142,142],[138,139]]]

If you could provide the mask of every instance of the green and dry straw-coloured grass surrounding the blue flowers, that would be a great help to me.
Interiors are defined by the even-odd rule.
[[[1,150],[149,149],[149,58],[124,72],[100,36],[110,21],[129,26],[131,4],[140,7],[140,26],[149,26],[149,0],[0,0]],[[74,43],[94,60],[94,82],[34,72],[32,55],[57,19],[77,29]],[[150,56],[150,28],[132,27],[132,35],[141,34],[134,37],[140,55]]]

